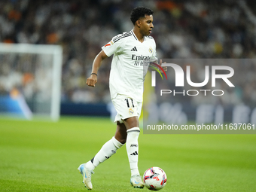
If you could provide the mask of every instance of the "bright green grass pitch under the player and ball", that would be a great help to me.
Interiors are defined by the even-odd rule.
[[[77,168],[114,135],[108,118],[0,119],[0,191],[87,191]],[[256,135],[139,136],[139,171],[161,167],[161,191],[256,191]],[[126,148],[95,169],[93,191],[130,187]]]

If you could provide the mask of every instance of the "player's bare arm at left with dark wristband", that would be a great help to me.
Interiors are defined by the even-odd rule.
[[[105,54],[105,52],[102,50],[99,52],[99,54],[95,57],[93,61],[93,69],[92,73],[90,75],[90,78],[87,78],[87,85],[90,87],[95,87],[95,84],[97,83],[97,75],[99,67],[102,65],[102,61],[107,58],[108,56]]]

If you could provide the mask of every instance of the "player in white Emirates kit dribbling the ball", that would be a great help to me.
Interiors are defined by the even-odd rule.
[[[130,183],[136,188],[144,187],[138,169],[139,116],[142,110],[143,82],[148,70],[147,63],[157,62],[156,44],[154,38],[149,36],[154,28],[152,14],[151,9],[134,8],[130,17],[134,25],[133,29],[112,38],[102,47],[93,61],[92,73],[90,78],[87,78],[87,85],[90,87],[95,87],[102,60],[114,54],[109,89],[111,101],[117,110],[114,120],[117,123],[117,130],[113,138],[102,146],[92,160],[78,167],[83,175],[83,182],[89,190],[93,188],[91,183],[93,169],[115,154],[125,143],[131,170]]]

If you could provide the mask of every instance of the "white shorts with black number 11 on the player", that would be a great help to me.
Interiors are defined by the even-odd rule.
[[[135,116],[139,118],[142,111],[142,102],[136,102],[136,100],[130,96],[120,94],[117,94],[117,96],[111,100],[115,110],[117,110],[114,122],[119,121],[123,123],[124,119]]]

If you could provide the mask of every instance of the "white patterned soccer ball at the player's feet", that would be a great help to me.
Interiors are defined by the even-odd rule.
[[[149,190],[160,190],[166,185],[167,176],[163,169],[153,166],[145,171],[143,181]]]

